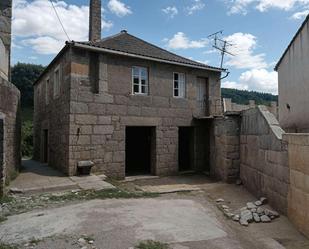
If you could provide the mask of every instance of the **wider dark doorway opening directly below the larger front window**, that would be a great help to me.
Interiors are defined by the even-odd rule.
[[[126,175],[151,174],[154,127],[126,127]]]

